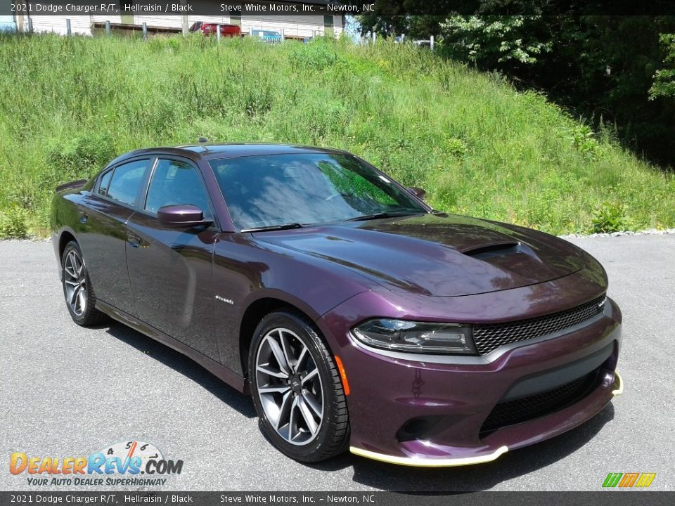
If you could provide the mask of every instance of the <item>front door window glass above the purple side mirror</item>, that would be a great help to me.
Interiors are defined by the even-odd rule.
[[[146,211],[156,213],[165,205],[191,204],[211,219],[209,197],[195,167],[178,160],[159,160],[148,188]]]

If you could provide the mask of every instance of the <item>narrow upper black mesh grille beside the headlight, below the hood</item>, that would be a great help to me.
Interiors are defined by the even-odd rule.
[[[559,313],[539,316],[538,318],[475,325],[473,327],[473,340],[476,343],[478,353],[484,355],[504,344],[552,334],[590,320],[593,316],[602,313],[605,309],[605,298],[605,295],[601,295],[592,301],[581,304],[581,306]]]

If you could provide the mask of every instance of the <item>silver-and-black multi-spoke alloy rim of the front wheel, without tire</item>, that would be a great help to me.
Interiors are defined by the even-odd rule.
[[[255,368],[260,403],[277,434],[296,446],[313,441],[323,422],[323,388],[307,345],[275,328],[262,338]]]

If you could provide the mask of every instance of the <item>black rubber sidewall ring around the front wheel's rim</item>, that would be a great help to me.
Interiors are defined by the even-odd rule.
[[[316,367],[319,369],[319,377],[321,377],[321,388],[323,390],[323,420],[321,421],[319,434],[317,434],[310,443],[303,446],[296,446],[288,443],[277,434],[276,429],[274,429],[269,420],[267,420],[258,396],[257,375],[255,372],[255,361],[258,349],[264,336],[278,327],[288,328],[288,330],[295,332],[295,334],[302,339],[302,342],[307,345],[310,356],[316,364]],[[263,432],[276,448],[290,458],[296,460],[313,460],[315,455],[321,454],[323,449],[328,445],[328,441],[330,441],[330,436],[337,421],[337,415],[333,406],[335,406],[338,392],[336,392],[333,387],[333,378],[330,375],[326,363],[326,361],[332,361],[333,358],[330,354],[326,355],[323,353],[322,348],[328,349],[328,347],[325,344],[320,346],[320,344],[323,344],[321,342],[321,337],[319,337],[316,331],[307,325],[307,323],[304,323],[300,318],[297,318],[290,313],[276,312],[269,314],[259,323],[250,347],[248,361],[248,370],[250,371],[249,382],[253,403],[255,404],[255,409],[258,413]]]

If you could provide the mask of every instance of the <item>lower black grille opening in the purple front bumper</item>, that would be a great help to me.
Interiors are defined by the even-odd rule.
[[[598,370],[580,377],[578,380],[561,385],[551,390],[531,396],[497,404],[483,422],[480,432],[486,435],[501,427],[508,427],[528,422],[544,415],[550,415],[586,395],[598,377]]]

